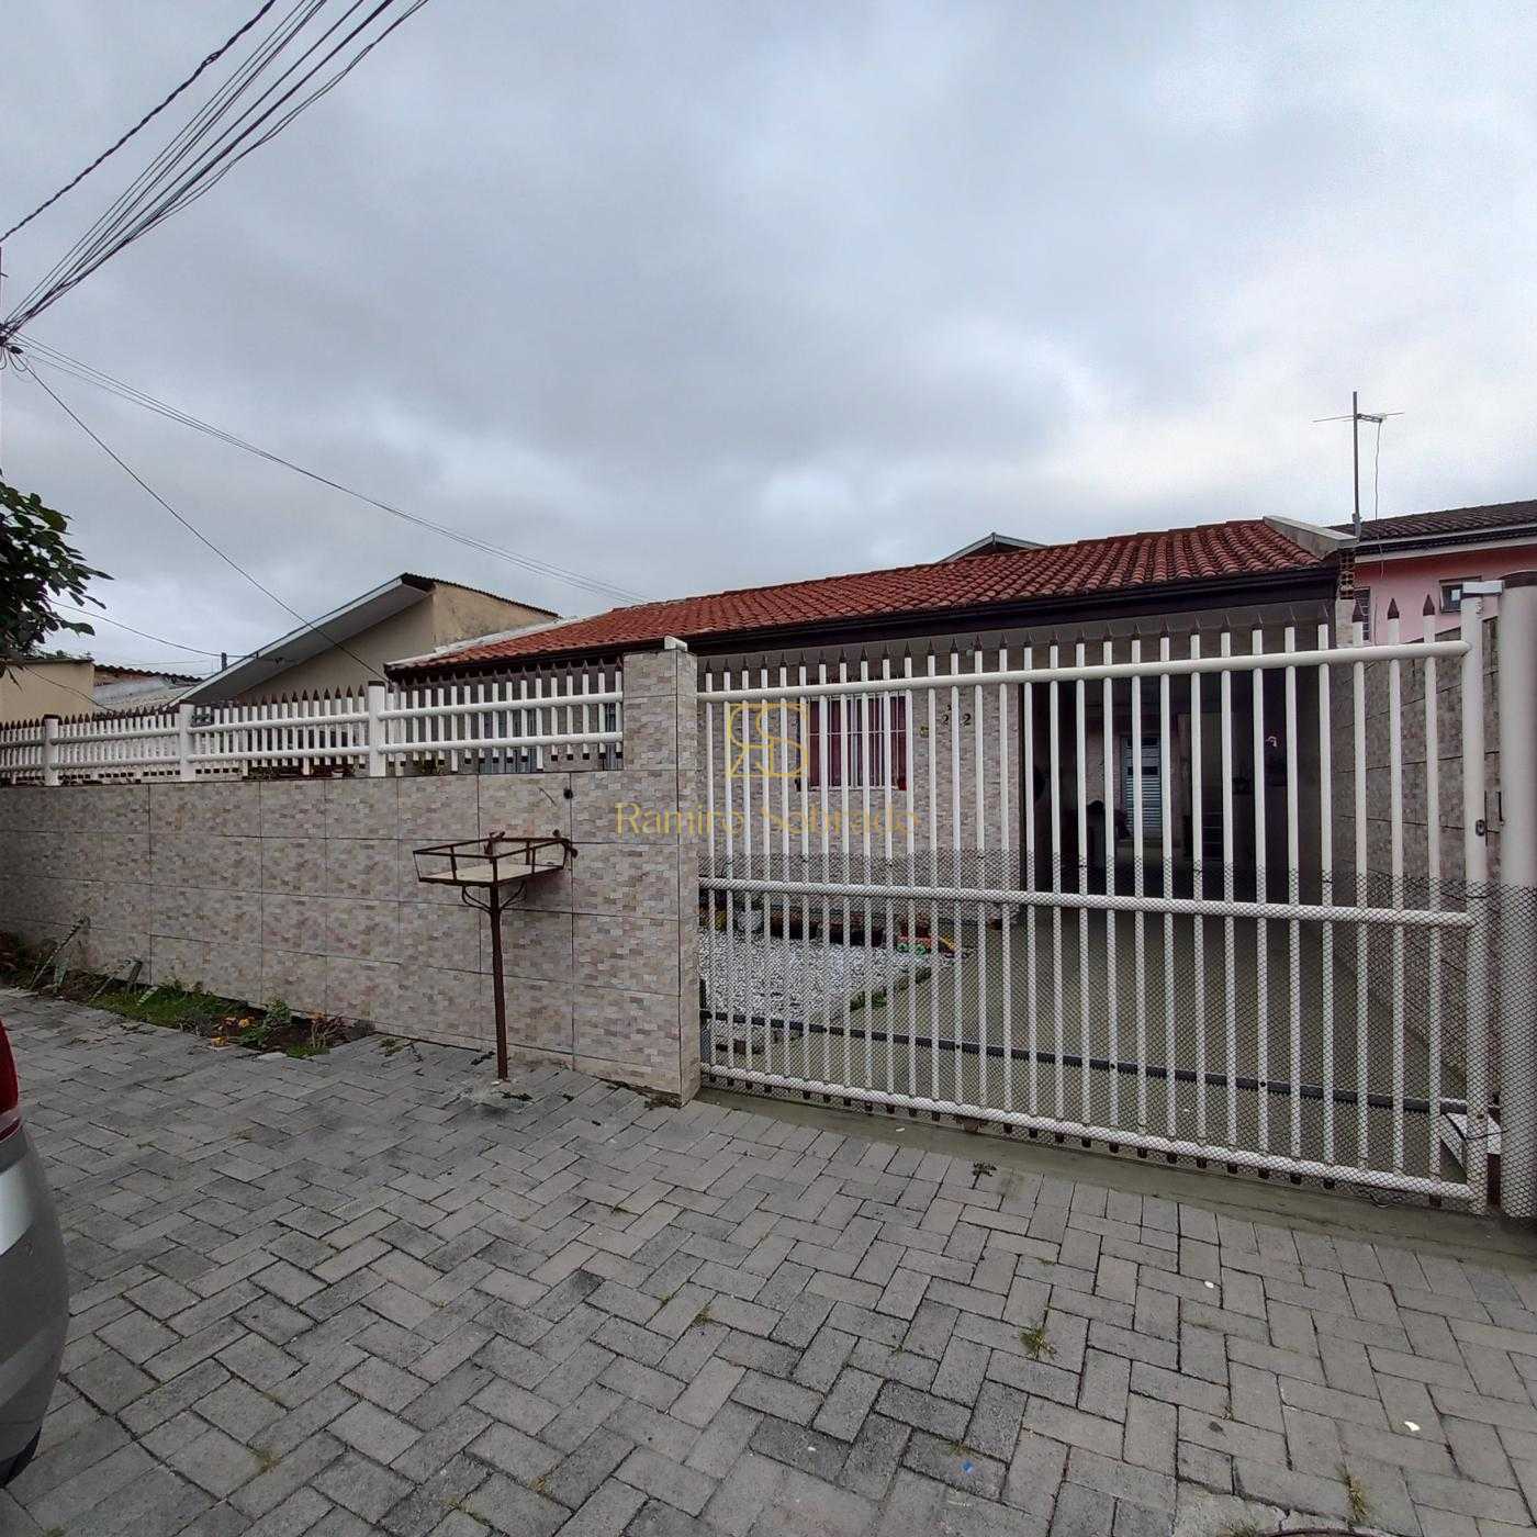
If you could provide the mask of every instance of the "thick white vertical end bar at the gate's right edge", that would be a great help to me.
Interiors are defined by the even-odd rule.
[[[1468,882],[1468,1185],[1472,1210],[1488,1205],[1489,1136],[1489,850],[1485,842],[1483,599],[1462,599],[1463,878]],[[1525,1087],[1525,1085],[1522,1085]]]

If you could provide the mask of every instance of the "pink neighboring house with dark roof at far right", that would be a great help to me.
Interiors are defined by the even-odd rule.
[[[1337,526],[1342,533],[1349,524]],[[1373,518],[1360,530],[1356,589],[1365,595],[1368,635],[1380,638],[1389,603],[1397,603],[1403,635],[1417,638],[1425,599],[1436,607],[1436,629],[1456,629],[1465,581],[1537,569],[1537,501],[1414,512]],[[1499,610],[1499,599],[1486,604]]]

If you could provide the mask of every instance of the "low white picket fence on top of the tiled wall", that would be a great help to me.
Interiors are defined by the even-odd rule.
[[[616,767],[618,666],[0,725],[0,784]]]

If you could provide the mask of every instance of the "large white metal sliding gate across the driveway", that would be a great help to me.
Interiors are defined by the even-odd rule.
[[[1482,627],[1431,624],[707,670],[707,1079],[1482,1210]]]

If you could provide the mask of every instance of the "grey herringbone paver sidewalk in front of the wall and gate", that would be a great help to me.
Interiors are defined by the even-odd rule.
[[[490,1111],[449,1048],[0,1013],[74,1279],[0,1532],[1151,1537],[1353,1489],[1532,1529],[1531,1271],[570,1073]]]

